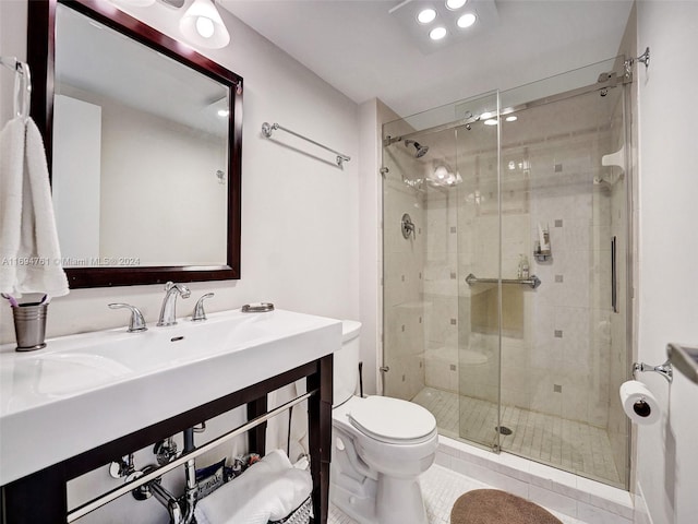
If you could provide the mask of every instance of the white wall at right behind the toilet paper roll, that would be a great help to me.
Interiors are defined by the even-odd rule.
[[[651,48],[639,83],[638,358],[658,365],[667,342],[698,344],[698,3],[640,1],[638,49]],[[637,484],[654,524],[696,522],[698,385],[676,372],[641,379],[669,405],[662,421],[638,428]]]

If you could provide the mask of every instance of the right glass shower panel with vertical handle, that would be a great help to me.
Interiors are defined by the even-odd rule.
[[[502,273],[516,275],[524,258],[542,284],[503,293],[502,426],[512,433],[502,450],[623,487],[627,425],[614,391],[626,365],[627,189],[611,160],[625,141],[623,88],[513,116],[501,123]],[[545,238],[550,257],[537,258]],[[519,307],[521,329],[507,326]]]

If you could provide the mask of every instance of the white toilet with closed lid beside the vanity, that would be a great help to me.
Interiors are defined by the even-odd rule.
[[[334,355],[330,500],[361,524],[426,524],[419,475],[436,456],[436,419],[411,402],[356,395],[360,329],[345,321]]]

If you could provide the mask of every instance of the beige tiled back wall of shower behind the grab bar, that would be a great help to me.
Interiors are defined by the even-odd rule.
[[[610,169],[601,156],[613,147],[603,116],[610,112],[597,98],[535,107],[502,130],[502,277],[515,278],[525,254],[542,285],[504,286],[503,309],[510,311],[503,312],[501,394],[505,405],[605,428],[612,188],[594,178]],[[459,141],[462,183],[426,192],[424,302],[432,315],[425,379],[429,386],[496,402],[496,325],[472,325],[472,308],[486,305],[481,296],[495,296],[496,286],[465,283],[469,273],[498,273],[496,154],[484,147],[488,135],[472,136]],[[448,142],[431,145],[448,151]],[[542,263],[532,257],[539,223],[550,228],[553,248]]]

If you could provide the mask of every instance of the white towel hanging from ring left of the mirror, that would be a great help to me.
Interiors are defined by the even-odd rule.
[[[44,141],[34,121],[8,122],[0,152],[0,291],[67,295]]]

